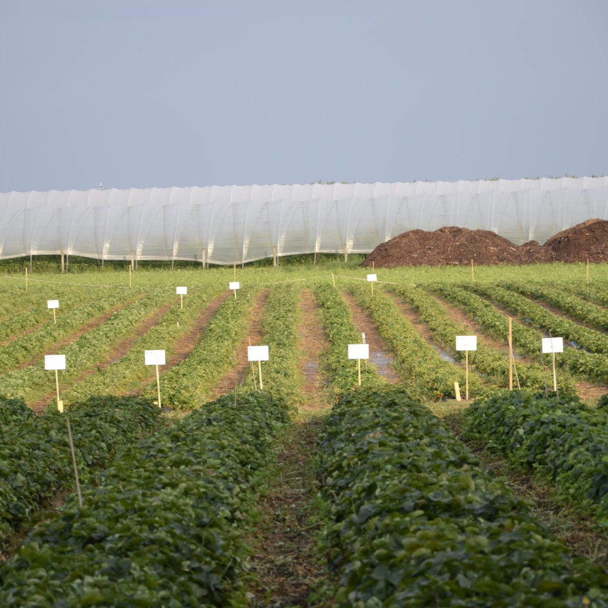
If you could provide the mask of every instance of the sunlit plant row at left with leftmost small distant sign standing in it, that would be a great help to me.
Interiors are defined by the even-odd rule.
[[[48,322],[26,336],[5,345],[0,350],[0,373],[10,370],[16,365],[30,361],[36,355],[44,353],[47,348],[52,347],[56,342],[69,337],[78,331],[83,325],[95,317],[103,316],[114,306],[123,302],[122,292],[110,292],[104,294],[105,297],[91,302],[90,296],[85,299],[85,304],[77,306],[69,312],[61,312],[57,323],[53,322],[50,311],[46,309],[44,303],[44,316]]]

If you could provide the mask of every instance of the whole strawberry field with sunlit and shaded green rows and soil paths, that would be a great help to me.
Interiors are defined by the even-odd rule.
[[[0,278],[0,606],[608,606],[608,271],[475,270]]]

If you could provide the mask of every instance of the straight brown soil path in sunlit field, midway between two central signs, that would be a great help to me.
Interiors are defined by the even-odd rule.
[[[300,318],[300,369],[305,378],[303,393],[306,396],[302,407],[318,409],[324,405],[323,394],[327,385],[327,379],[319,367],[320,359],[322,353],[328,350],[329,342],[319,318],[317,303],[308,289],[300,295]]]

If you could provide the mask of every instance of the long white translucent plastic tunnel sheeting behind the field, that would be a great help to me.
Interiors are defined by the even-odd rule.
[[[482,228],[543,243],[608,219],[608,178],[0,193],[0,258],[205,260],[367,253],[406,230]]]

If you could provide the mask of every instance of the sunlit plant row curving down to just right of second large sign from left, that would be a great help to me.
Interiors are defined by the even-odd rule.
[[[247,336],[257,288],[240,289],[238,298],[228,297],[210,320],[202,340],[190,355],[161,377],[165,405],[192,409],[204,402],[233,361],[233,352]],[[156,382],[145,395],[156,396]]]

